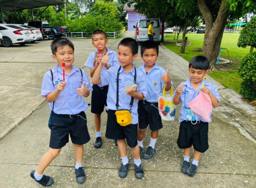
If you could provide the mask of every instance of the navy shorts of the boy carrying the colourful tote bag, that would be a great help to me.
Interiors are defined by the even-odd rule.
[[[150,130],[156,131],[162,129],[162,120],[158,111],[158,103],[139,100],[139,128],[146,129],[150,124]]]

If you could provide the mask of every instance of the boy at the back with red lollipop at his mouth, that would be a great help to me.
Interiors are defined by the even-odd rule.
[[[119,61],[117,60],[117,52],[113,50],[109,50],[106,47],[108,44],[108,39],[106,38],[105,32],[102,30],[96,30],[92,33],[92,44],[97,49],[96,52],[92,52],[88,59],[86,60],[85,66],[90,68],[90,76],[94,75],[94,71],[100,64],[102,57],[108,57],[107,64],[104,65],[102,70],[107,70],[112,66],[119,66]],[[98,49],[100,49],[100,53],[98,53]],[[104,111],[104,106],[106,106],[106,95],[108,93],[108,85],[102,86],[101,83],[98,85],[92,86],[92,108],[91,112],[94,113],[94,124],[96,128],[96,140],[94,143],[95,148],[100,148],[102,146],[102,138],[100,132],[100,116]]]

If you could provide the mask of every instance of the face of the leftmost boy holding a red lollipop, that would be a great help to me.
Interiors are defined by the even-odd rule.
[[[62,63],[65,62],[65,68],[69,68],[75,60],[75,55],[73,49],[67,45],[63,48],[57,48],[57,52],[55,55],[52,55],[52,58],[58,62],[60,67],[62,67]]]

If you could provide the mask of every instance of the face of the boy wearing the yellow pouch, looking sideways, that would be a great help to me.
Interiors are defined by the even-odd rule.
[[[133,60],[137,58],[137,54],[133,55],[129,47],[119,45],[117,58],[119,60],[120,65],[123,66],[123,68],[125,68],[127,66],[133,66]]]

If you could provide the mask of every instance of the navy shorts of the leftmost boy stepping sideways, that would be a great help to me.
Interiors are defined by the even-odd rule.
[[[73,144],[83,145],[89,142],[86,113],[62,115],[53,113],[51,120],[50,148],[59,149],[69,142],[69,134]]]

